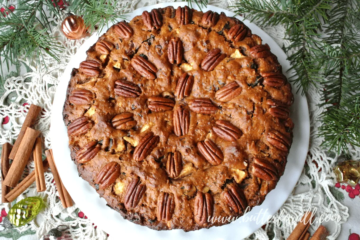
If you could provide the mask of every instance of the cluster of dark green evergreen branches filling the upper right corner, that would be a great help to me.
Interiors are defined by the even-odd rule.
[[[360,146],[360,1],[359,0],[241,0],[238,14],[262,26],[282,24],[290,46],[285,51],[306,93],[311,85],[322,92],[324,112],[319,136],[329,150]],[[298,88],[300,89],[300,88]]]

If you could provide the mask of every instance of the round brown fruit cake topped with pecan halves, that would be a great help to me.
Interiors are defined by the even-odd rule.
[[[79,175],[109,207],[191,231],[274,189],[292,103],[276,56],[241,21],[166,7],[99,37],[72,71],[63,117]]]

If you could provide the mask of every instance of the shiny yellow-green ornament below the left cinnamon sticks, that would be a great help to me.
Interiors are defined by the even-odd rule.
[[[44,200],[40,197],[27,197],[18,201],[10,208],[9,221],[16,227],[24,226],[36,217],[46,207]]]

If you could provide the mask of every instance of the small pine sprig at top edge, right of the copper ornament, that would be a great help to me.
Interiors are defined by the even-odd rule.
[[[93,31],[98,26],[97,32],[101,32],[105,26],[118,22],[119,18],[126,19],[126,6],[119,6],[119,0],[71,0],[69,9],[75,15],[81,15],[85,26]]]

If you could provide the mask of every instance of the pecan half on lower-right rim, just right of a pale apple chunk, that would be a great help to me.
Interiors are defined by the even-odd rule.
[[[255,158],[252,164],[252,173],[254,176],[265,181],[278,180],[278,171],[275,166],[265,159]]]

